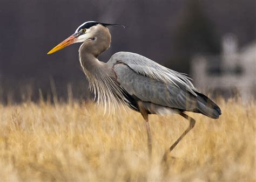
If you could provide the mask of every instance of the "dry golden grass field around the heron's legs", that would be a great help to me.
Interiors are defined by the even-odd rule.
[[[0,104],[0,181],[255,181],[256,102],[218,100],[219,120],[188,126],[179,115],[150,116],[152,158],[143,117],[104,116],[93,103]],[[174,158],[175,157],[175,158]]]

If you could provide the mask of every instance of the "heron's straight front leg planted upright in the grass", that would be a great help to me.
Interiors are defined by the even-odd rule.
[[[147,149],[149,150],[149,156],[151,157],[152,141],[151,141],[151,132],[150,132],[150,124],[149,124],[149,114],[147,114],[147,111],[144,109],[141,102],[138,102],[138,106],[139,106],[140,114],[142,114],[145,120],[145,125],[147,129]]]

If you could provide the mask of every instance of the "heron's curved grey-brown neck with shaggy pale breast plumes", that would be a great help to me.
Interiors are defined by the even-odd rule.
[[[103,27],[97,32],[96,39],[85,41],[79,48],[79,61],[89,81],[89,88],[97,97],[97,102],[102,103],[109,111],[114,111],[118,103],[125,103],[123,89],[113,79],[111,67],[97,59],[98,55],[110,46],[111,36]]]

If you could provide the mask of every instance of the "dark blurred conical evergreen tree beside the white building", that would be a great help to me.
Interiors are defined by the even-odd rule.
[[[214,23],[206,16],[199,1],[188,1],[174,31],[173,62],[187,73],[194,54],[219,54],[220,37]]]

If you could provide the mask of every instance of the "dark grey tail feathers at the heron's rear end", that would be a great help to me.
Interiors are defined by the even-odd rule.
[[[217,119],[221,115],[221,110],[215,102],[213,102],[209,97],[204,94],[197,92],[197,102],[198,102],[198,113],[204,114],[208,117]]]

